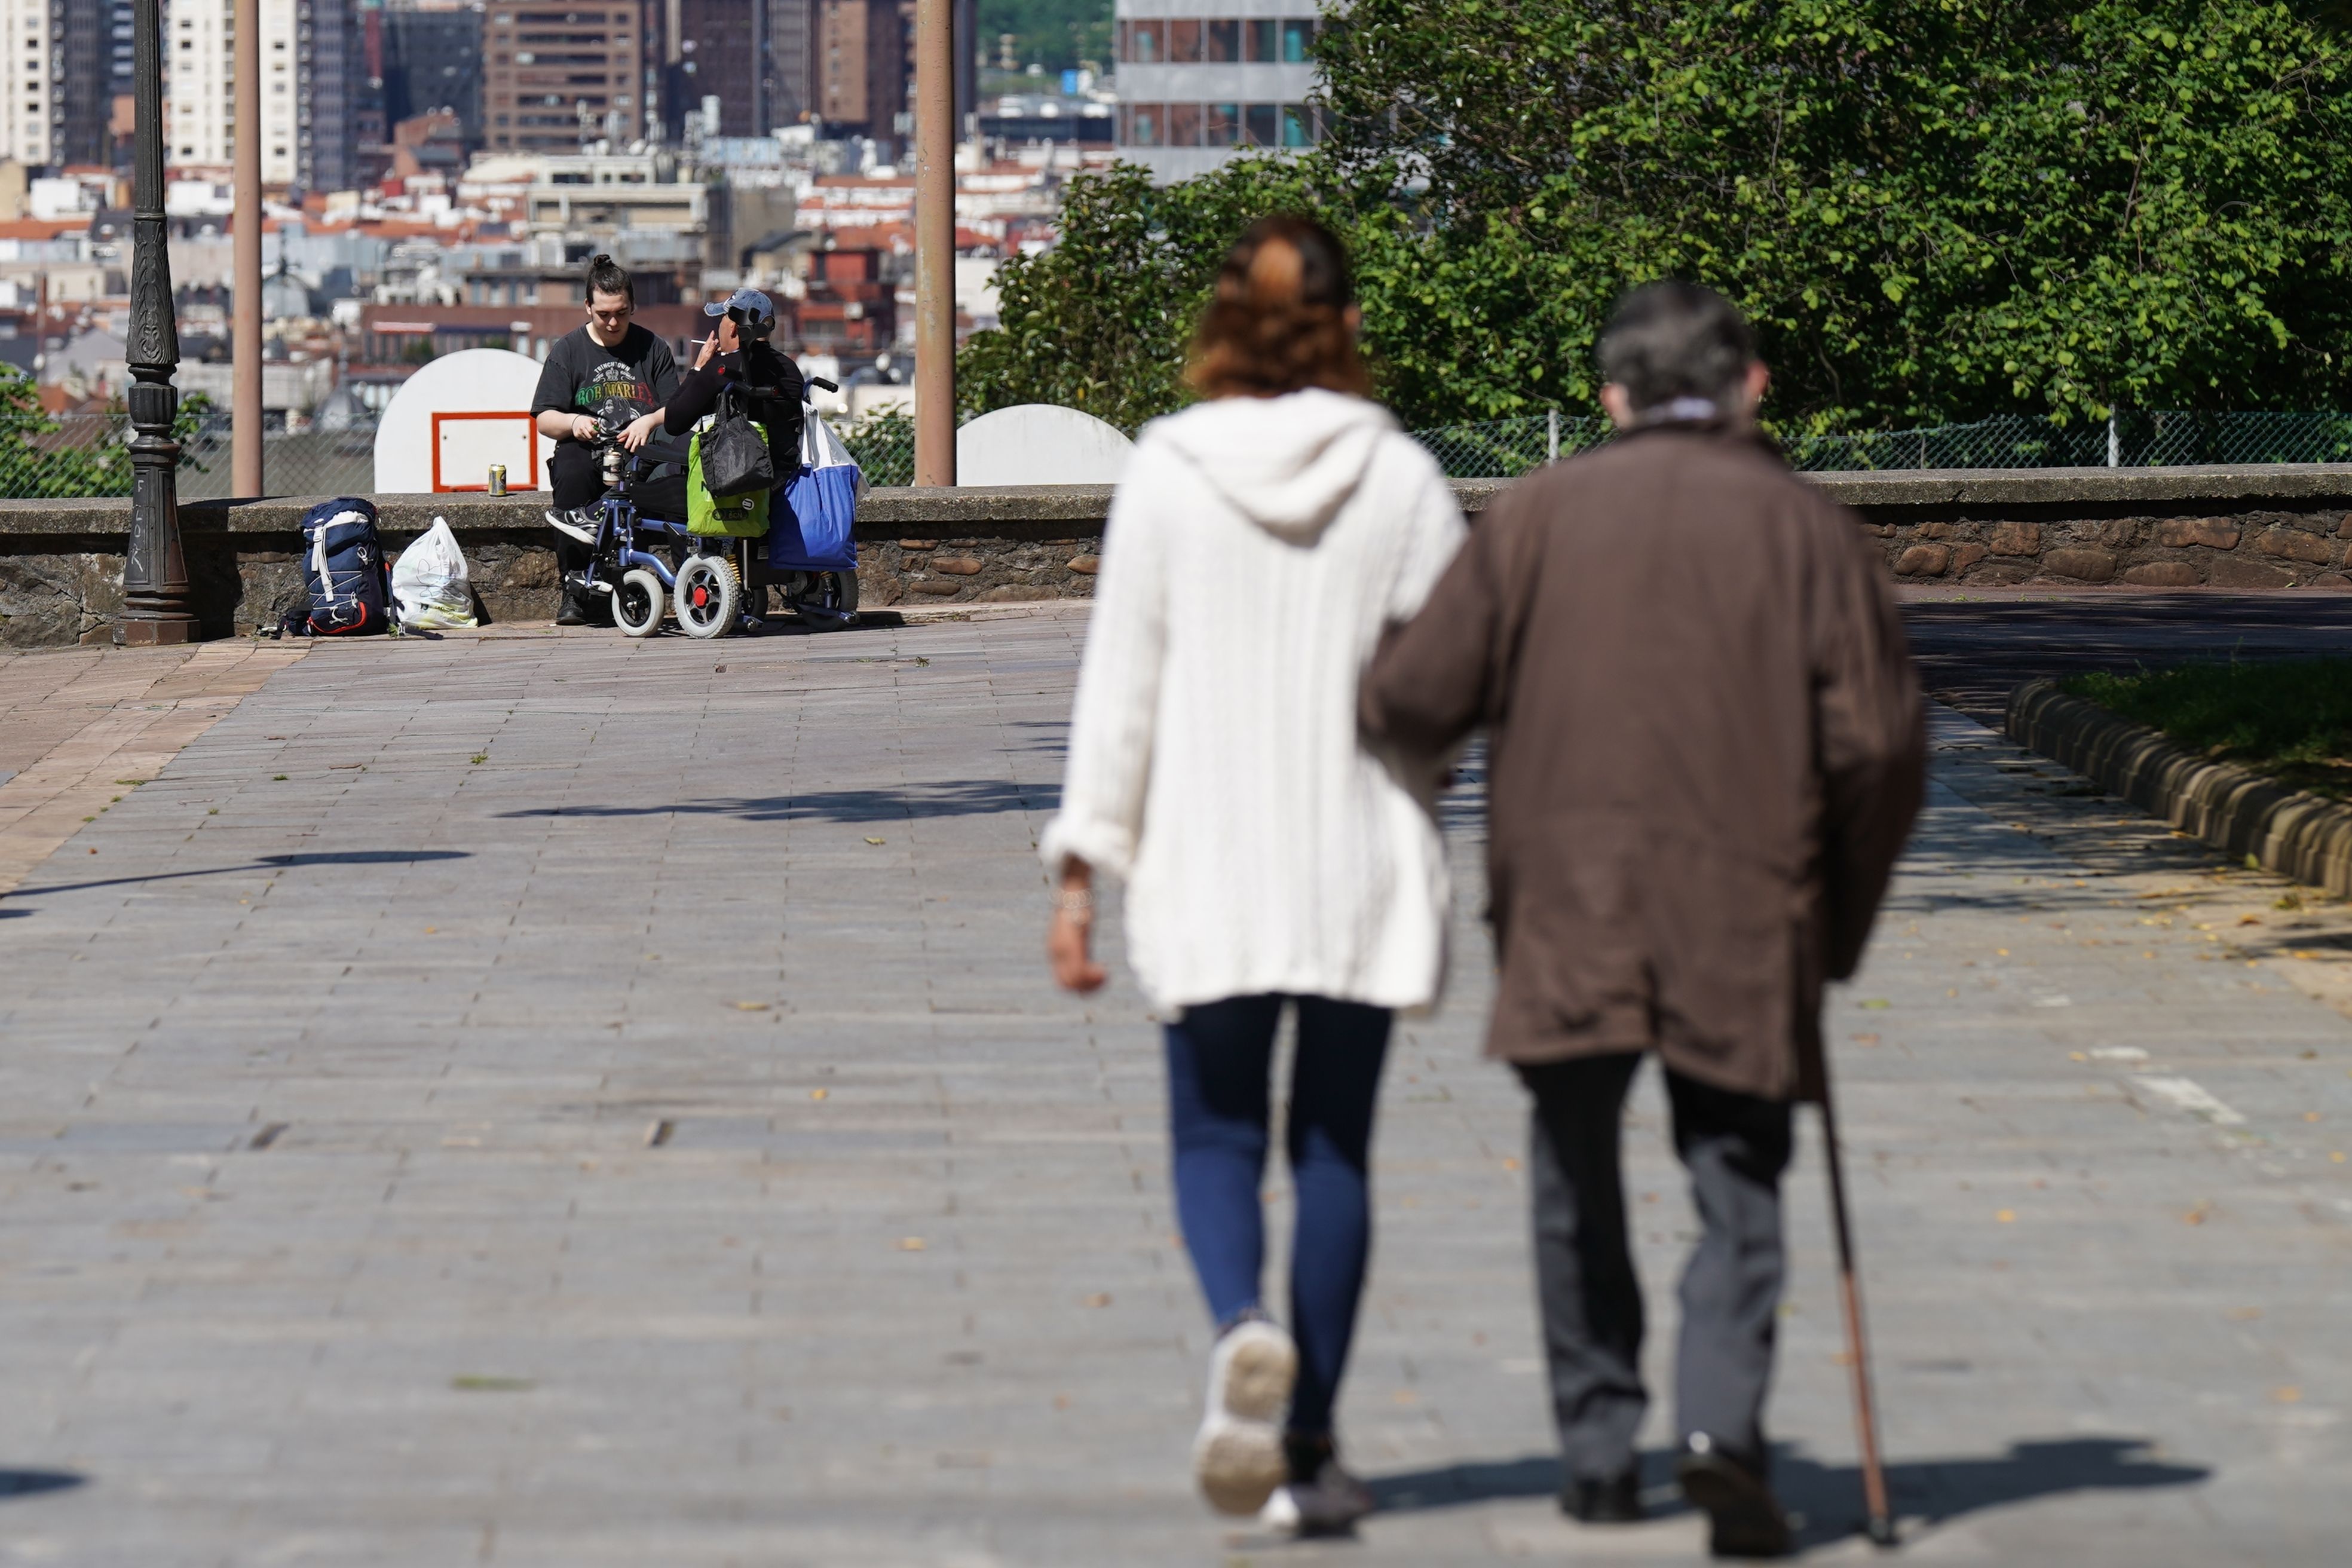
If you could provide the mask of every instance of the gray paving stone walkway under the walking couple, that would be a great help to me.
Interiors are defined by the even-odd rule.
[[[1037,952],[1082,635],[329,644],[80,825],[0,898],[0,1563],[1696,1561],[1663,1413],[1656,1523],[1550,1505],[1468,914],[1341,1413],[1385,1512],[1190,1497],[1152,1030]],[[1938,748],[1832,1001],[1907,1556],[2338,1563],[2343,922]],[[1630,1114],[1663,1378],[1691,1218]],[[1780,1474],[1863,1561],[1811,1126],[1792,1194]]]

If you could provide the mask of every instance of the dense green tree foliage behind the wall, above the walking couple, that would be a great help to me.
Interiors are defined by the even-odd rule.
[[[2352,54],[2314,16],[1355,0],[1317,45],[1315,155],[1202,195],[1098,186],[1068,221],[1084,261],[1028,263],[976,369],[1171,407],[1235,202],[1279,197],[1348,235],[1416,423],[1588,407],[1611,301],[1663,275],[1755,317],[1792,430],[2347,407]],[[1112,350],[1122,320],[1145,327]]]

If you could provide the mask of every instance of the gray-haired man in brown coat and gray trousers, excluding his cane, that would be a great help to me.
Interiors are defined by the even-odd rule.
[[[1790,1105],[1919,806],[1919,686],[1858,520],[1755,435],[1764,367],[1717,294],[1651,284],[1599,346],[1611,444],[1510,489],[1364,682],[1376,745],[1486,729],[1489,1053],[1529,1168],[1562,1507],[1639,1516],[1642,1288],[1618,1124],[1665,1063],[1703,1237],[1682,1276],[1679,1476],[1724,1556],[1788,1526],[1762,1427]]]

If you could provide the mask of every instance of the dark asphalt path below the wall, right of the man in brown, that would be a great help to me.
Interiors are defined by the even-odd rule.
[[[1905,590],[1903,618],[1931,696],[1999,724],[2037,675],[2197,658],[2352,656],[2352,595]]]

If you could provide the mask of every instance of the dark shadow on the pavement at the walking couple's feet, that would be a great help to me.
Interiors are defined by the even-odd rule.
[[[2089,1490],[2138,1490],[2150,1486],[2194,1486],[2209,1469],[2171,1465],[2150,1455],[2143,1439],[2070,1436],[2046,1443],[2011,1443],[2004,1455],[1896,1460],[1886,1467],[1886,1486],[1903,1521],[1929,1526],[1978,1509]],[[1672,1519],[1689,1505],[1672,1493],[1675,1455],[1642,1455],[1642,1481],[1651,1516]],[[1402,1476],[1367,1481],[1381,1500],[1381,1512],[1446,1509],[1498,1497],[1550,1497],[1559,1490],[1559,1458],[1477,1460],[1444,1469],[1416,1469]],[[1863,1528],[1863,1481],[1853,1465],[1820,1465],[1783,1448],[1773,1460],[1773,1486],[1780,1500],[1804,1516],[1799,1542],[1820,1547]]]

